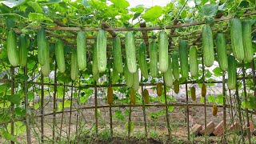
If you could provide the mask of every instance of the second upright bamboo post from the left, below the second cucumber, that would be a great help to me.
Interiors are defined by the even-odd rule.
[[[24,67],[24,74],[27,75],[27,66]],[[24,94],[25,94],[25,112],[26,112],[26,142],[31,143],[31,132],[30,132],[30,107],[28,102],[27,94],[27,81],[24,82]]]

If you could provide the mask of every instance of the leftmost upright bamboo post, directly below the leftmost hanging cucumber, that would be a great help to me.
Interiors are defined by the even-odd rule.
[[[11,66],[10,68],[10,77],[11,77],[11,96],[14,97],[14,93],[15,93],[15,81],[14,81],[14,66]],[[10,109],[11,109],[11,118],[12,118],[12,121],[10,122],[10,134],[14,135],[14,118],[15,118],[15,115],[14,115],[14,103],[11,102],[11,105],[10,105]],[[11,144],[14,144],[13,141],[10,141]]]

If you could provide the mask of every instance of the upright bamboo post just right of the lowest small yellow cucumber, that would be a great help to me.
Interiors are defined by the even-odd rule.
[[[223,137],[222,140],[226,143],[226,88],[225,88],[225,73],[222,71],[222,94],[223,94]]]

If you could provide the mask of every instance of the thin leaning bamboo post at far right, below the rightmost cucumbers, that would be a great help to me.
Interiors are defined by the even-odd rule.
[[[242,84],[243,84],[243,90],[245,94],[245,102],[247,102],[247,94],[246,94],[246,70],[245,70],[245,64],[242,62]],[[246,108],[246,130],[247,130],[247,136],[248,136],[248,141],[249,144],[251,144],[251,139],[250,139],[250,125],[249,125],[249,114],[248,114],[248,108]]]

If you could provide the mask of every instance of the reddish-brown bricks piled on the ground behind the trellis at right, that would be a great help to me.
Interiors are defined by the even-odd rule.
[[[194,135],[209,135],[209,136],[218,136],[221,137],[222,134],[224,134],[224,122],[218,123],[218,125],[215,125],[214,122],[207,123],[206,127],[202,126],[198,123],[195,123],[192,128],[190,129],[190,134]],[[243,126],[243,129],[245,129],[247,126]],[[256,129],[254,129],[254,124],[252,121],[249,122],[249,129],[254,136],[256,136]],[[242,126],[238,122],[234,122],[230,127],[227,128],[228,131],[236,130],[241,131]]]

